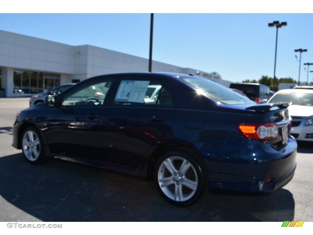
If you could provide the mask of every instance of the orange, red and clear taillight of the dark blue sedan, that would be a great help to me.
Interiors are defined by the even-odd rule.
[[[244,136],[264,140],[279,137],[279,130],[276,123],[241,124],[239,130]]]

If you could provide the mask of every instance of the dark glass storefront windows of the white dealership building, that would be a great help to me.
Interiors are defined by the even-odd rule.
[[[14,70],[13,93],[37,94],[60,86],[60,74]]]

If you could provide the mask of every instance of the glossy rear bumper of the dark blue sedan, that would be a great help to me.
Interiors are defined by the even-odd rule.
[[[209,186],[235,191],[270,192],[286,185],[296,169],[296,141],[289,138],[289,144],[279,151],[266,147],[266,144],[259,145],[262,148],[256,144],[243,150],[244,155],[228,156],[225,161],[207,161]]]

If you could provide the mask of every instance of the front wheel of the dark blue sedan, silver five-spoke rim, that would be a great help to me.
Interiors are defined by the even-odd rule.
[[[44,141],[35,127],[28,127],[22,134],[22,151],[26,161],[36,164],[44,159]]]

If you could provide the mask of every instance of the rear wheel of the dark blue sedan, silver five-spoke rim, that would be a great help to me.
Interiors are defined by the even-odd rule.
[[[197,160],[184,152],[169,152],[157,160],[156,186],[162,197],[175,206],[190,206],[203,195],[205,174]]]

